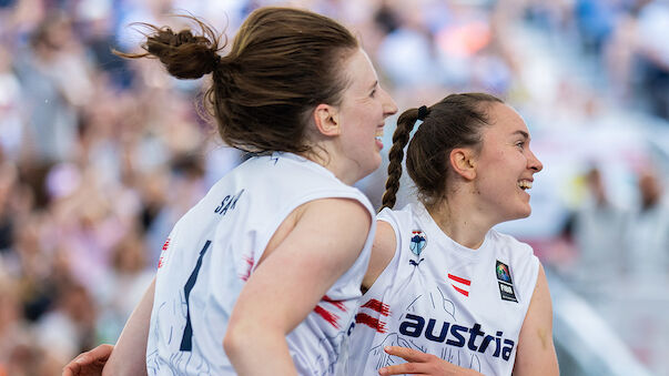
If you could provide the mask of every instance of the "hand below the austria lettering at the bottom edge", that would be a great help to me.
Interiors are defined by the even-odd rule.
[[[432,375],[432,376],[456,376],[456,375],[482,375],[476,370],[458,367],[435,355],[398,346],[387,346],[384,350],[394,356],[398,356],[408,363],[378,369],[379,375]]]

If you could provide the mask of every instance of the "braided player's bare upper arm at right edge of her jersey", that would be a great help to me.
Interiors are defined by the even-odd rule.
[[[553,343],[553,304],[546,273],[540,264],[537,284],[518,337],[514,375],[559,375]]]

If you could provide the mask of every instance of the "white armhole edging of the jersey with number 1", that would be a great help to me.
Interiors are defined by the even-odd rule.
[[[274,236],[274,233],[276,233],[276,230],[278,230],[278,227],[281,226],[281,224],[283,223],[283,221],[285,221],[288,215],[298,206],[304,205],[306,203],[310,203],[312,201],[316,201],[316,200],[322,200],[322,199],[349,199],[353,201],[358,202],[361,205],[363,205],[367,212],[371,215],[371,224],[369,224],[369,231],[367,233],[367,240],[365,241],[365,247],[367,247],[369,245],[371,248],[371,241],[373,241],[373,230],[375,230],[375,213],[374,210],[372,209],[372,204],[368,202],[367,197],[365,195],[363,195],[362,193],[357,193],[357,192],[351,192],[351,191],[346,191],[346,190],[339,190],[339,191],[327,191],[327,192],[314,192],[311,194],[307,194],[305,196],[302,196],[297,200],[295,200],[294,202],[292,202],[291,204],[286,205],[284,207],[284,210],[282,210],[275,217],[273,221],[270,222],[270,225],[267,225],[264,230],[262,230],[262,233],[266,234],[264,238],[262,238],[261,241],[259,241],[257,244],[257,250],[254,253],[254,265],[252,268],[252,273],[255,272],[255,268],[257,267],[257,262],[259,260],[262,258],[263,254],[265,253],[265,248],[267,247],[267,244],[270,244],[270,240],[272,238],[272,236]],[[372,236],[369,236],[372,235]],[[362,252],[363,250],[361,250]]]

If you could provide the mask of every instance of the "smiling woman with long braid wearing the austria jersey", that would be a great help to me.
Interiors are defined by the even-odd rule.
[[[518,113],[483,93],[399,116],[348,375],[558,374],[544,270],[493,230],[530,214],[543,165],[529,141]],[[407,142],[418,203],[393,211]]]

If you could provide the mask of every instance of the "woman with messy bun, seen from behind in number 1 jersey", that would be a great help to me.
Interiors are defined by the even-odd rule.
[[[375,221],[352,184],[381,164],[397,111],[353,34],[326,17],[260,8],[230,52],[149,26],[145,53],[180,79],[211,73],[224,142],[254,153],[175,225],[111,357],[64,375],[333,375],[361,295]],[[104,366],[104,369],[102,369]]]

